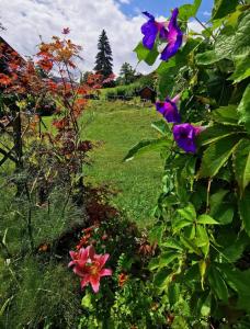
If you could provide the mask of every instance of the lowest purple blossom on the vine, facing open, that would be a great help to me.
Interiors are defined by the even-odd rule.
[[[194,127],[191,124],[184,123],[173,127],[173,138],[178,146],[186,152],[195,154],[195,138],[201,133],[201,127]]]

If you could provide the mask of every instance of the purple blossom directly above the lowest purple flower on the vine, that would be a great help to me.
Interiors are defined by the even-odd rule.
[[[169,123],[181,122],[181,115],[178,112],[178,106],[177,106],[179,100],[180,100],[180,94],[175,95],[175,98],[173,98],[172,100],[167,98],[164,102],[156,102],[157,111],[160,112]]]

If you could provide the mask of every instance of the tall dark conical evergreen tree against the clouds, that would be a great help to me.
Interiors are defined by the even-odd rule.
[[[102,31],[99,37],[98,49],[94,70],[107,78],[113,72],[113,57],[105,30]]]

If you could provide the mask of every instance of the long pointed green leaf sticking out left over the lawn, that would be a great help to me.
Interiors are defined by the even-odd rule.
[[[162,150],[171,145],[171,141],[167,138],[158,138],[158,139],[146,139],[136,144],[123,159],[123,161],[129,161],[135,156],[151,151],[151,150]]]

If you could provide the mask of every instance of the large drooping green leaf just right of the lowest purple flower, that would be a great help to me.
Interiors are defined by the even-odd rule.
[[[203,155],[198,177],[212,178],[216,175],[234,152],[239,138],[239,136],[229,136],[211,145]]]

